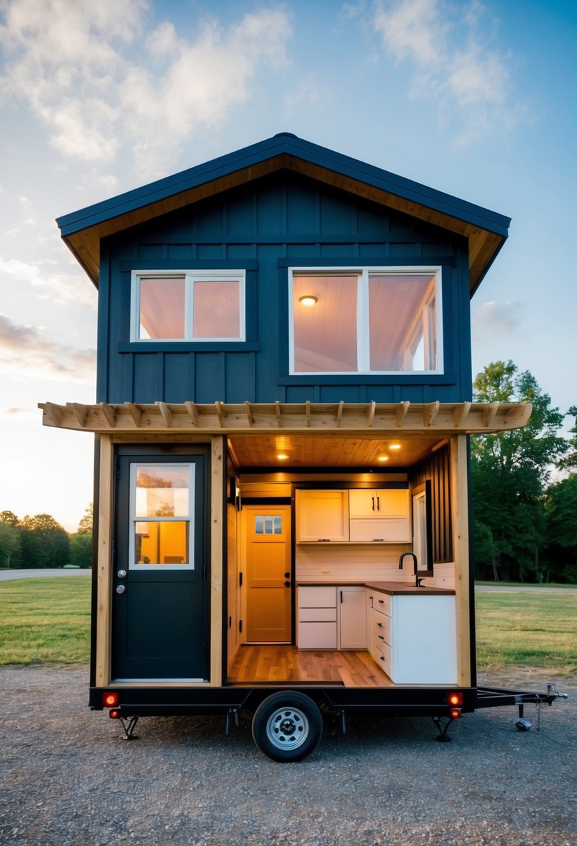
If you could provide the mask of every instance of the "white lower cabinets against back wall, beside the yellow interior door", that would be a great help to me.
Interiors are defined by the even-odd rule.
[[[366,649],[365,588],[299,586],[299,649]]]

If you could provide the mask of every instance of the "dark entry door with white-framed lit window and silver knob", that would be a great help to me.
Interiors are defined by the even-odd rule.
[[[119,455],[113,678],[208,678],[206,456]]]

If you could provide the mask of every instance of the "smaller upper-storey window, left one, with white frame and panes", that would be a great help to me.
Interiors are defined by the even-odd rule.
[[[244,341],[245,271],[133,271],[132,341]]]

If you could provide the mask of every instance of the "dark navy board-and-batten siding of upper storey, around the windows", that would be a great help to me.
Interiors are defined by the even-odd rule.
[[[278,173],[102,241],[100,402],[398,402],[470,398],[467,243]],[[442,265],[442,376],[289,376],[287,267]],[[245,268],[245,343],[130,343],[132,270]]]

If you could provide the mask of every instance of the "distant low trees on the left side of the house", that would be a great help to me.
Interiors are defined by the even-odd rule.
[[[71,535],[50,514],[20,520],[12,511],[0,512],[0,567],[90,567],[91,563],[92,506]]]

